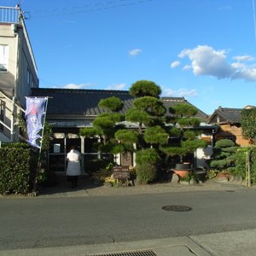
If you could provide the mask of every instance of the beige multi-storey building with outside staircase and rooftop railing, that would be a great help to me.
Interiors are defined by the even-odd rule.
[[[38,88],[38,70],[20,7],[0,6],[0,142],[19,140],[18,116]]]

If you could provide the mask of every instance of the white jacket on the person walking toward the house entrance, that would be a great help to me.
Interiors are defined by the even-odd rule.
[[[78,150],[72,149],[70,152],[67,154],[67,172],[66,174],[68,176],[78,176],[81,174],[81,165],[80,165],[80,160],[81,160],[81,154],[79,153]]]

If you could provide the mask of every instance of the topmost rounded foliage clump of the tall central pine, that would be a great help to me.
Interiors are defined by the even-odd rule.
[[[159,98],[161,94],[160,86],[152,81],[139,80],[134,84],[131,84],[129,90],[131,96],[143,97],[143,96],[153,96]]]

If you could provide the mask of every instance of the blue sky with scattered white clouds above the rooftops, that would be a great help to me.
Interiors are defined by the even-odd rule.
[[[129,90],[147,79],[205,113],[256,105],[254,0],[20,3],[42,88]]]

